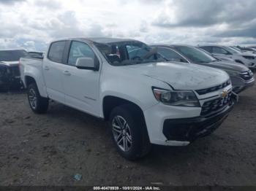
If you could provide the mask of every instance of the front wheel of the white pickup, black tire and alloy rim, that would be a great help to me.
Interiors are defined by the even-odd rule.
[[[119,154],[127,160],[143,157],[151,149],[146,124],[139,116],[130,105],[117,106],[110,114],[113,142]]]

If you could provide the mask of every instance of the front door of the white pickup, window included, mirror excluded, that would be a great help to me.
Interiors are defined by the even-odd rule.
[[[78,58],[92,58],[97,62],[99,59],[89,44],[78,41],[69,44],[67,64],[62,68],[65,103],[83,112],[99,115],[99,71],[75,66]]]

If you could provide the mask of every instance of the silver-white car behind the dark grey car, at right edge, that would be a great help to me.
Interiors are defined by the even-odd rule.
[[[204,45],[199,46],[201,49],[214,55],[214,57],[219,58],[231,58],[236,63],[242,63],[249,69],[256,69],[256,55],[250,52],[241,52],[239,50],[233,49],[232,47],[220,46],[220,45]],[[224,60],[224,59],[223,59]]]

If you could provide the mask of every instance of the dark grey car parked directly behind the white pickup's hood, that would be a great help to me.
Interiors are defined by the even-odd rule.
[[[198,47],[169,44],[154,44],[151,47],[157,47],[157,52],[168,61],[196,63],[226,71],[230,75],[233,92],[235,93],[241,93],[241,91],[252,86],[255,82],[252,71],[246,66],[228,61],[220,61]]]

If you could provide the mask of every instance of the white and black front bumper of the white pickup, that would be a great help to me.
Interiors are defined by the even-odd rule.
[[[217,129],[233,105],[234,101],[231,100],[224,108],[203,116],[201,107],[156,104],[143,111],[151,144],[186,146]]]

